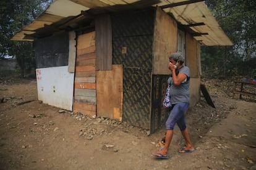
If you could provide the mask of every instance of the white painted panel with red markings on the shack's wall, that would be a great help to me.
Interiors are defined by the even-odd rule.
[[[74,73],[67,69],[67,66],[36,69],[38,100],[72,111]]]

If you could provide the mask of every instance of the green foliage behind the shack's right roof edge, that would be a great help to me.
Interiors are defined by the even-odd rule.
[[[232,47],[202,47],[202,71],[211,77],[250,76],[256,68],[256,1],[207,0],[208,8],[233,41]]]

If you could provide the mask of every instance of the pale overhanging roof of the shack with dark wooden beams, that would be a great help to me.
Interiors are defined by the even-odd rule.
[[[15,34],[12,40],[33,41],[49,33],[79,28],[77,23],[86,23],[92,19],[92,15],[152,6],[159,6],[173,15],[202,45],[233,45],[201,0],[56,0],[40,17]]]

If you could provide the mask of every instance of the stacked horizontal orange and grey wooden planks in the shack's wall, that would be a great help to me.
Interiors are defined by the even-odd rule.
[[[75,62],[74,112],[96,115],[95,31],[77,39]]]

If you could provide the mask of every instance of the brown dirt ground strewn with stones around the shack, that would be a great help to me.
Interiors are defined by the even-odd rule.
[[[193,153],[175,127],[169,159],[159,160],[164,127],[147,129],[60,110],[37,100],[35,79],[0,78],[0,169],[256,169],[255,100],[231,99],[226,85],[204,81],[216,108],[202,97],[186,113]]]

